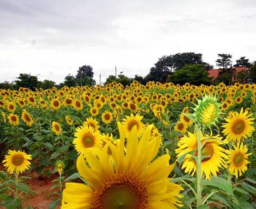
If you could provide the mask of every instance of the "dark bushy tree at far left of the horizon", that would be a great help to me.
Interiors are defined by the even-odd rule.
[[[19,87],[29,88],[30,90],[35,90],[37,85],[37,76],[20,73],[18,80],[15,80],[16,89]]]

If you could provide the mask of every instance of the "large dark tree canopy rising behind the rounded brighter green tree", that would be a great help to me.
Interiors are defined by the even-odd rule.
[[[162,56],[155,63],[155,67],[150,68],[146,81],[159,81],[164,83],[175,70],[183,68],[185,65],[200,64],[202,68],[209,70],[212,65],[202,61],[202,54],[194,52],[178,53],[175,55]]]

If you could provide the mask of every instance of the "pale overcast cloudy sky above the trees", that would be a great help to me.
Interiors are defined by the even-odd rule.
[[[256,60],[256,0],[0,0],[0,82],[19,73],[59,84],[90,65],[145,76],[164,55]]]

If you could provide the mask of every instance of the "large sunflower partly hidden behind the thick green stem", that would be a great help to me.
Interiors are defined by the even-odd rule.
[[[219,168],[226,167],[225,160],[226,150],[220,145],[222,142],[220,141],[222,137],[217,136],[203,136],[201,132],[201,144],[202,147],[202,156],[209,156],[207,158],[203,158],[201,162],[201,176],[203,173],[205,174],[206,180],[211,178],[211,174],[217,176],[217,172]],[[192,158],[192,154],[189,152],[197,149],[197,133],[194,134],[188,132],[188,136],[184,136],[178,142],[179,148],[175,150],[178,153],[177,158],[188,153],[183,161],[182,169],[185,168],[185,173],[192,173],[192,175],[196,172],[196,161]],[[194,153],[197,156],[197,152]]]

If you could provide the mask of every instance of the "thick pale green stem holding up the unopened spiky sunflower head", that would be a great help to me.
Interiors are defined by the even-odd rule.
[[[197,208],[201,205],[202,203],[202,190],[201,190],[201,161],[202,161],[202,156],[201,156],[201,125],[197,124],[197,172],[196,172],[196,206]]]

